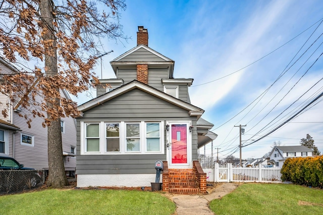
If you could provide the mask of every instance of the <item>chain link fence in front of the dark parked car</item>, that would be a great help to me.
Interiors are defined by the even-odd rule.
[[[41,187],[45,173],[45,170],[0,170],[0,194]]]

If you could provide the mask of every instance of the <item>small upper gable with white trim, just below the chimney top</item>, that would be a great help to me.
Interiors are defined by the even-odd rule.
[[[136,60],[138,58],[133,58],[133,59],[127,58],[127,57],[130,57],[131,55],[136,55],[136,53],[139,53],[142,50],[149,52],[150,55],[154,56],[155,58],[153,58],[153,60],[147,60],[145,56],[145,58],[142,58],[142,61]],[[140,44],[130,49],[129,51],[123,53],[118,58],[112,60],[110,64],[116,75],[119,67],[129,67],[137,64],[161,65],[161,66],[165,65],[170,68],[170,78],[173,78],[175,61],[165,57],[164,55],[161,55],[161,53],[153,50],[152,48],[146,45]]]

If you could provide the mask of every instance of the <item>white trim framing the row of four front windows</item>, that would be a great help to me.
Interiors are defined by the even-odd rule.
[[[100,151],[99,152],[87,152],[86,151],[86,145],[85,145],[85,125],[86,123],[99,123],[99,136],[100,136]],[[105,124],[106,123],[119,123],[120,125],[120,151],[106,151],[106,143],[105,143],[105,136],[106,132],[102,132],[105,130]],[[133,152],[133,151],[127,151],[127,142],[126,142],[126,124],[140,124],[140,151]],[[146,135],[145,135],[145,123],[159,123],[159,133],[160,133],[160,151],[146,151]],[[164,121],[122,121],[122,122],[110,122],[110,121],[81,121],[80,122],[80,133],[81,133],[81,148],[80,153],[81,154],[164,154],[165,153],[165,131],[164,131]]]

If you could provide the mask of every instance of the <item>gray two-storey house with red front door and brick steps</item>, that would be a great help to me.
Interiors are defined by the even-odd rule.
[[[164,163],[165,191],[172,176],[204,176],[197,151],[217,135],[190,103],[193,79],[175,79],[175,62],[148,47],[147,29],[138,30],[137,46],[110,62],[116,79],[100,80],[97,97],[79,105],[78,187],[150,186],[156,160]]]

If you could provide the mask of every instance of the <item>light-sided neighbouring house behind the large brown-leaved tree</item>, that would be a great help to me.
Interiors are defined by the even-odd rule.
[[[0,74],[13,72],[20,71],[0,58]],[[61,90],[61,94],[69,98],[67,91]],[[42,96],[37,95],[36,100],[41,102]],[[43,119],[32,118],[31,128],[28,128],[26,120],[19,114],[31,116],[30,110],[12,103],[2,93],[0,102],[0,112],[6,109],[8,113],[6,118],[0,113],[0,155],[14,157],[25,167],[47,170],[47,128],[42,127]],[[9,107],[7,103],[10,104]],[[76,121],[73,118],[62,118],[61,127],[65,170],[73,173],[76,168]]]

